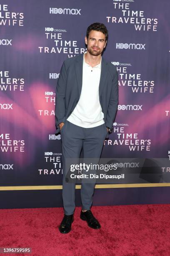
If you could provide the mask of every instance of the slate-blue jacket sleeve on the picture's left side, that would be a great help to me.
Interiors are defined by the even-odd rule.
[[[65,61],[62,64],[56,87],[55,95],[55,126],[59,128],[61,122],[65,122],[65,90],[67,84],[67,72]]]

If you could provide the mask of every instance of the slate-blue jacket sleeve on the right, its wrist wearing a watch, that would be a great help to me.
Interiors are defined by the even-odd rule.
[[[118,73],[115,72],[115,76],[112,80],[112,91],[110,95],[110,102],[107,110],[106,116],[106,126],[112,128],[113,122],[115,120],[117,105],[118,105]]]

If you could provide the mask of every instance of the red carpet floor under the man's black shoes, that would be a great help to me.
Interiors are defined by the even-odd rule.
[[[58,230],[62,208],[0,210],[0,247],[31,247],[34,256],[169,256],[170,205],[92,207],[101,229],[80,220],[72,231]]]

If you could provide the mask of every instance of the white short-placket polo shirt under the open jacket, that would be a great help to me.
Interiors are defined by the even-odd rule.
[[[100,64],[91,67],[85,62],[85,53],[83,56],[82,90],[80,99],[67,120],[75,125],[91,128],[105,123],[103,120],[104,114],[99,101],[102,57]]]

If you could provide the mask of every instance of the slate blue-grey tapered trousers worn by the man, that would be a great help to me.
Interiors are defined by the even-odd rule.
[[[62,200],[64,212],[71,215],[75,210],[75,182],[66,182],[66,159],[80,158],[80,152],[83,151],[83,158],[100,159],[107,128],[105,123],[92,128],[83,128],[68,120],[65,121],[61,129],[62,142]],[[77,163],[78,164],[78,163]],[[92,195],[95,189],[95,183],[81,184],[82,209],[90,210],[92,205]]]

